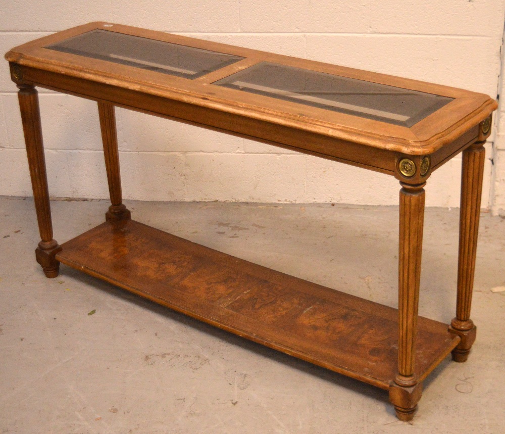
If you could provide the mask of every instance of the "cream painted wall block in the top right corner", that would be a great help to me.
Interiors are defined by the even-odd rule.
[[[368,5],[371,33],[481,35],[503,33],[503,0],[382,0]]]

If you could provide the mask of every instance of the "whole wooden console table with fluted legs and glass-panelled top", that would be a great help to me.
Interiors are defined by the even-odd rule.
[[[389,391],[410,420],[422,381],[450,353],[464,362],[487,95],[109,23],[90,23],[6,55],[19,104],[47,277],[60,263],[156,303]],[[53,238],[35,86],[98,102],[112,205],[103,224]],[[398,309],[194,244],[130,218],[122,204],[114,107],[222,131],[396,177]],[[447,326],[418,317],[425,191],[463,153],[458,301]]]

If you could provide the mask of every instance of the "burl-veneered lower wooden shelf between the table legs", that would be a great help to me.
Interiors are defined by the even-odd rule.
[[[127,220],[62,245],[58,261],[176,311],[388,389],[397,372],[396,309],[331,290]],[[460,338],[419,317],[422,380]]]

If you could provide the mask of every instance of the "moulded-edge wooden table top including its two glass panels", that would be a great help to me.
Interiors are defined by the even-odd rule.
[[[6,59],[409,155],[436,152],[497,107],[468,90],[104,22]]]

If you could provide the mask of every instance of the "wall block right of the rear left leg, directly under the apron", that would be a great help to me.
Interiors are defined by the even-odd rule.
[[[120,149],[143,152],[242,152],[242,139],[169,119],[117,109]]]

